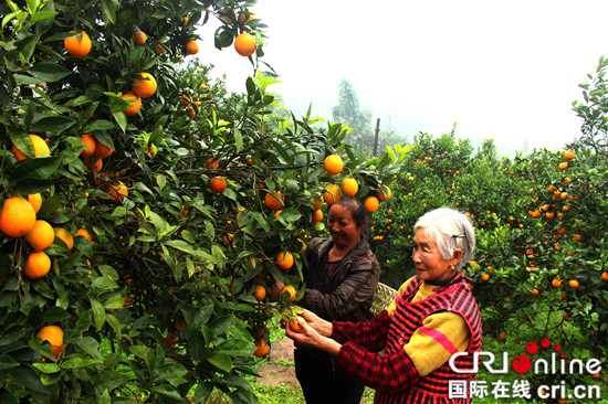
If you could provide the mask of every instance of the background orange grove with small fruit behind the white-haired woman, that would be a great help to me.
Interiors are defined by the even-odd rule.
[[[584,102],[574,109],[583,120],[581,137],[564,150],[499,159],[489,141],[473,155],[453,132],[418,136],[394,198],[370,223],[382,279],[398,286],[412,275],[411,228],[421,213],[459,209],[478,230],[475,261],[464,273],[484,333],[518,340],[521,349],[547,338],[560,341],[567,358],[606,358],[607,65],[601,59],[590,83],[580,85]],[[588,374],[558,379],[568,385],[593,381]]]

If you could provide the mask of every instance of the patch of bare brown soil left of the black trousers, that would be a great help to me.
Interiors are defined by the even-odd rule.
[[[261,378],[258,378],[255,382],[270,386],[300,386],[297,379],[295,379],[293,349],[293,341],[289,338],[273,341],[269,360],[258,366],[258,373]],[[276,362],[283,362],[283,364]],[[291,364],[284,362],[290,362]]]

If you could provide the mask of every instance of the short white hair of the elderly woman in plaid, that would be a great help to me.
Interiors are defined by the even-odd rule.
[[[419,228],[423,228],[424,235],[437,244],[443,259],[451,258],[455,248],[462,249],[458,270],[473,258],[475,231],[467,215],[450,208],[434,209],[418,219],[413,231]]]

